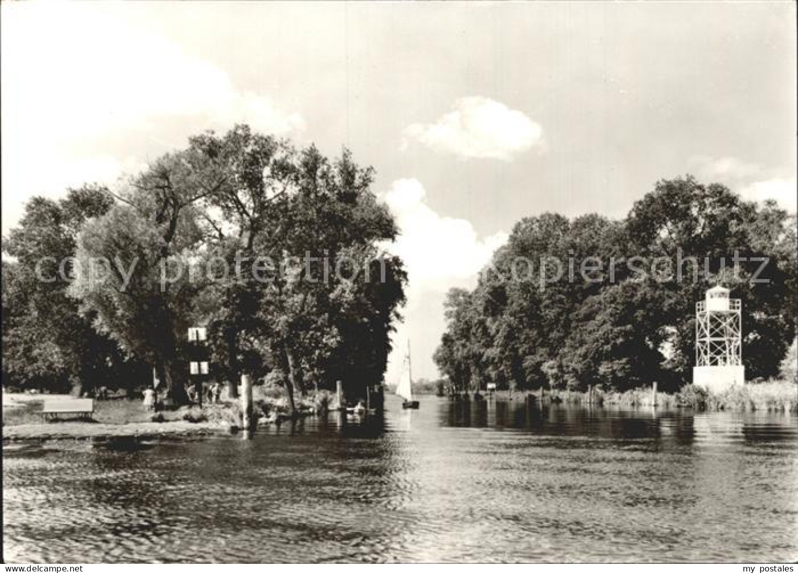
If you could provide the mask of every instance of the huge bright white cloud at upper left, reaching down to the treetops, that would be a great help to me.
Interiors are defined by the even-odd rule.
[[[160,153],[194,131],[236,122],[279,135],[304,128],[298,113],[239,91],[222,69],[117,18],[110,8],[80,2],[2,6],[4,230],[31,194],[59,194],[76,182],[113,182],[125,167],[146,163],[144,157],[110,155],[102,146],[109,135],[132,131],[137,139],[164,139]],[[189,131],[172,127],[164,133],[164,120]]]

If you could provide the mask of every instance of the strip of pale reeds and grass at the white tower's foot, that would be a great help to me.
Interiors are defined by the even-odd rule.
[[[555,402],[587,404],[587,392],[554,390],[545,398]],[[626,392],[593,391],[593,403],[607,406],[653,406],[654,396],[650,388],[637,388]],[[693,410],[737,410],[798,412],[798,384],[787,381],[746,383],[728,391],[713,393],[692,384],[681,388],[676,394],[658,392],[656,403],[662,408],[690,408]]]

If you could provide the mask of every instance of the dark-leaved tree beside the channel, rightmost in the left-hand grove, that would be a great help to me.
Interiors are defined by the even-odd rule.
[[[358,363],[354,356],[359,353],[366,360],[387,356],[389,331],[404,300],[401,261],[381,247],[396,237],[396,225],[370,188],[373,170],[359,167],[349,151],[330,161],[308,147],[294,164],[295,188],[280,214],[282,224],[264,237],[262,249],[279,253],[278,258],[301,258],[305,268],[275,277],[263,320],[272,325],[271,349],[290,387],[302,391],[305,375],[317,371],[331,383],[341,377],[346,391],[357,394],[365,383],[363,375],[375,377],[368,383],[380,381],[384,360],[377,360],[378,371],[369,368],[357,377],[345,364]],[[365,269],[373,263],[377,272],[367,275]],[[350,304],[354,292],[368,297],[364,304]],[[357,321],[362,328],[353,327]],[[314,355],[318,343],[326,350],[315,363],[302,363]]]

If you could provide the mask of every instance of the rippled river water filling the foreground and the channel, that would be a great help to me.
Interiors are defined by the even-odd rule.
[[[798,559],[798,417],[421,398],[3,447],[6,562]]]

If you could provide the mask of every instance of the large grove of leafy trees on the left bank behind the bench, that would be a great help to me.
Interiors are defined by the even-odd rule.
[[[185,402],[185,333],[205,325],[232,391],[248,374],[282,383],[291,406],[338,379],[357,395],[381,380],[406,282],[381,248],[397,228],[372,179],[348,151],[330,160],[236,126],[189,139],[121,190],[34,198],[3,247],[15,258],[3,262],[4,378],[86,384],[97,377],[81,360],[146,364]],[[74,257],[69,280],[38,281],[41,257]]]

